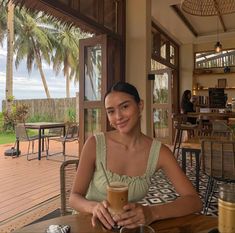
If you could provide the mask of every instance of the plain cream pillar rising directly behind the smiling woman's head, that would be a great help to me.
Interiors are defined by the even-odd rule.
[[[145,102],[142,131],[151,135],[150,71],[151,1],[126,1],[126,81],[134,84]],[[148,110],[148,111],[147,111]]]

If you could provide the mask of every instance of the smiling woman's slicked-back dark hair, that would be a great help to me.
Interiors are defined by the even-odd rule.
[[[107,97],[108,94],[110,94],[113,91],[117,91],[117,92],[124,92],[127,93],[131,96],[134,97],[135,101],[137,103],[140,102],[140,96],[139,93],[136,89],[135,86],[131,85],[130,83],[127,82],[117,82],[116,84],[114,84],[105,94],[104,96],[104,100]]]

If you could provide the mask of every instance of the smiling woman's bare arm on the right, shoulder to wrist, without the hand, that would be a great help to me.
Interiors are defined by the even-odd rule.
[[[163,170],[179,197],[173,202],[152,206],[150,209],[153,221],[201,211],[202,202],[196,190],[180,168],[170,149],[165,145],[161,147],[157,169]]]

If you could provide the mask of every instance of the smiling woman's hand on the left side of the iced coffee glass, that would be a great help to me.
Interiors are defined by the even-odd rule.
[[[92,219],[91,223],[92,226],[96,226],[96,220],[99,220],[104,227],[107,229],[111,229],[114,225],[114,221],[108,211],[108,202],[102,201],[99,202],[92,211]]]

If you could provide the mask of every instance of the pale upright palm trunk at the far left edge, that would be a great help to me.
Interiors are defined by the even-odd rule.
[[[6,64],[6,110],[11,111],[13,97],[13,46],[14,46],[14,4],[7,6],[7,64]]]

